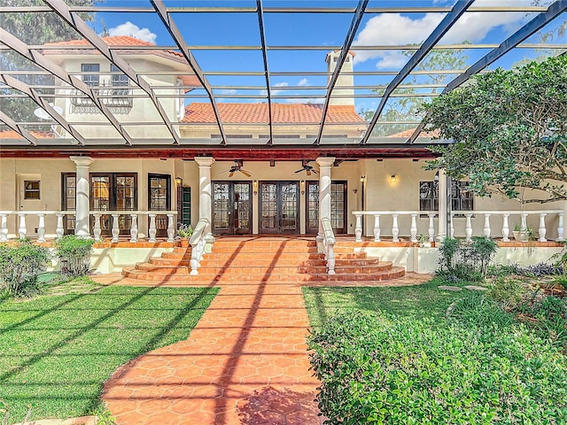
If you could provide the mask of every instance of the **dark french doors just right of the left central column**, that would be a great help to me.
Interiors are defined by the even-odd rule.
[[[252,182],[213,182],[213,233],[252,233]]]

